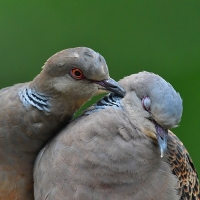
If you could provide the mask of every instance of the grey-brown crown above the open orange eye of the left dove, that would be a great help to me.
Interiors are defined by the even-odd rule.
[[[109,78],[103,56],[87,47],[65,49],[54,54],[47,60],[43,70],[55,77],[68,74],[72,67],[82,70],[87,79],[100,81]]]

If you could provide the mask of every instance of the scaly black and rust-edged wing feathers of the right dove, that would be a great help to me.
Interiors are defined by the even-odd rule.
[[[178,178],[178,194],[181,200],[199,200],[199,180],[192,159],[183,143],[169,132],[168,162],[173,174]]]

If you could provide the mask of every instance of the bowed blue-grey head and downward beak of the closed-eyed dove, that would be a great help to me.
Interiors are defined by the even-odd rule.
[[[120,84],[127,95],[131,92],[136,94],[140,112],[148,113],[147,118],[154,124],[155,132],[147,135],[157,138],[163,157],[167,149],[168,129],[178,126],[181,120],[183,107],[179,93],[162,77],[145,71],[126,77],[124,81],[122,79]],[[129,95],[129,101],[130,98]]]

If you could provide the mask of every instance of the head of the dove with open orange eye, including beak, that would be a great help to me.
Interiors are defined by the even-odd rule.
[[[105,59],[90,48],[78,47],[60,51],[50,57],[43,71],[47,87],[76,97],[88,97],[104,92],[124,96],[124,89],[109,76]]]

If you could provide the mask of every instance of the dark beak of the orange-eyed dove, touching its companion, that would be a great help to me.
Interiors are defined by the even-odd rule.
[[[101,90],[107,90],[107,91],[113,92],[114,94],[120,97],[124,97],[126,93],[125,90],[119,85],[119,83],[117,83],[112,78],[104,79],[102,81],[94,81],[94,83],[102,86],[102,88],[100,88]]]

